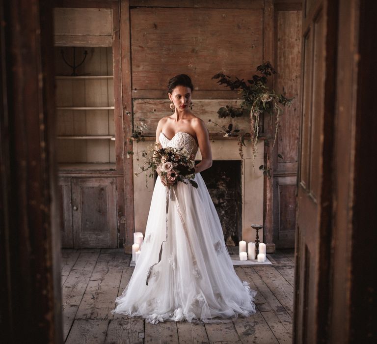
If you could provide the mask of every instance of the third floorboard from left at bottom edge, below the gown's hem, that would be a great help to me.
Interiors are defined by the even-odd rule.
[[[159,322],[157,324],[145,322],[144,343],[179,343],[177,323],[174,321]]]

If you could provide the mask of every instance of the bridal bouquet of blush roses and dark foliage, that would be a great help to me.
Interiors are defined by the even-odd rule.
[[[144,157],[148,158],[147,155]],[[141,168],[143,172],[151,168],[152,171],[157,171],[162,178],[166,178],[171,185],[181,181],[185,184],[189,183],[195,188],[198,187],[198,184],[192,180],[195,177],[194,162],[190,159],[186,148],[162,148],[159,143],[155,143],[153,157],[146,165],[147,167],[144,165]]]

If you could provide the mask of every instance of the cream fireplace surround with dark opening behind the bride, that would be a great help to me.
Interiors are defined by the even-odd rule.
[[[154,139],[151,138],[135,144],[138,144],[140,152],[153,142]],[[258,142],[258,153],[253,166],[251,144],[243,147],[241,159],[236,140],[212,140],[213,165],[200,172],[214,201],[229,249],[233,245],[238,246],[241,239],[254,241],[255,230],[251,228],[251,224],[263,224],[263,173],[259,170],[259,166],[263,165],[263,148],[263,142]],[[134,170],[137,171],[136,154],[133,158]],[[201,160],[200,150],[196,159]],[[154,186],[153,178],[148,179],[146,187],[145,175],[134,176],[135,231],[143,233]],[[263,230],[259,231],[259,236],[263,238]]]

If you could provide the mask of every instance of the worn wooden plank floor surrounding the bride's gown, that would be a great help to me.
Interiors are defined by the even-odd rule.
[[[236,267],[257,291],[256,314],[220,324],[111,315],[134,268],[122,249],[62,249],[65,343],[292,343],[294,250],[269,254],[270,266]]]

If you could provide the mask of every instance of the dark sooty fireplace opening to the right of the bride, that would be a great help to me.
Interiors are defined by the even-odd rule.
[[[242,240],[241,161],[213,160],[212,167],[200,174],[215,204],[226,246],[233,252]]]

